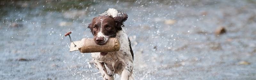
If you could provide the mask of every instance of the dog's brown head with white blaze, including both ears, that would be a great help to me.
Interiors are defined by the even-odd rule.
[[[128,15],[123,13],[122,16],[100,16],[92,19],[88,28],[91,29],[96,44],[102,45],[108,41],[108,38],[116,37],[116,33],[124,27]]]

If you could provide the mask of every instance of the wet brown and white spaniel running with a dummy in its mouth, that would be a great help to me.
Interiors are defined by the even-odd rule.
[[[130,39],[123,29],[127,18],[126,13],[108,9],[99,17],[93,18],[92,23],[88,25],[96,44],[105,44],[111,37],[117,38],[120,42],[120,49],[117,52],[91,53],[94,65],[100,70],[104,80],[114,80],[114,74],[121,76],[121,80],[133,79],[133,51]]]

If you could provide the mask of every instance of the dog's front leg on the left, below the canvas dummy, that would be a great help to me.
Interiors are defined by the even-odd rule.
[[[98,60],[95,60],[93,58],[94,64],[96,65],[96,67],[100,70],[100,73],[103,77],[104,80],[114,80],[113,76],[109,76],[107,73],[107,69],[103,66],[104,63],[99,62]]]

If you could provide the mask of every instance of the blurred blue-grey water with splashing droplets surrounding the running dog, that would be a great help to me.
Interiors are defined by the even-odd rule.
[[[256,79],[255,0],[1,0],[0,80],[102,80],[64,34],[92,38],[108,8],[129,16],[135,80]]]

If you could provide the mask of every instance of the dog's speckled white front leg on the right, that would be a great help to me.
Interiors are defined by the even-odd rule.
[[[132,77],[133,63],[127,62],[122,72],[121,80],[129,80]]]

